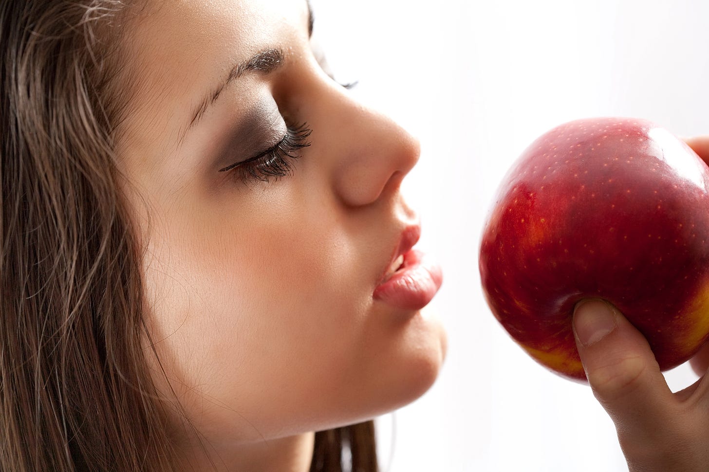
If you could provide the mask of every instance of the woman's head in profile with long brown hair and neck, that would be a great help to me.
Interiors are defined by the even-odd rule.
[[[442,276],[399,193],[418,143],[312,18],[3,2],[3,470],[376,470],[369,420],[445,355]]]

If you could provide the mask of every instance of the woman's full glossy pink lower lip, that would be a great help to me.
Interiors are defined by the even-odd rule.
[[[404,254],[401,269],[374,289],[374,299],[401,310],[420,310],[430,303],[442,282],[440,266],[412,249]]]

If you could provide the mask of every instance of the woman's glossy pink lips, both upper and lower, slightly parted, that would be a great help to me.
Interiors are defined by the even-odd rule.
[[[421,235],[420,225],[406,227],[387,266],[403,255],[401,267],[391,276],[386,271],[374,288],[373,297],[402,310],[420,310],[428,305],[443,282],[440,265],[423,252],[412,249]]]

